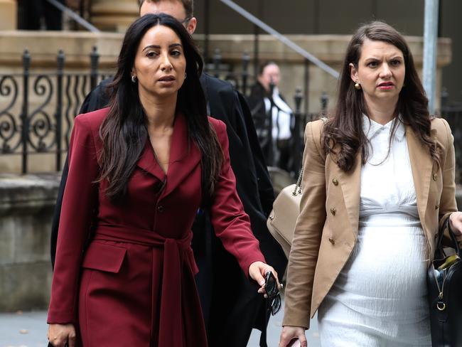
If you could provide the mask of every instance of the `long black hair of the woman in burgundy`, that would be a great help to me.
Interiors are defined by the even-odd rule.
[[[172,16],[146,14],[134,21],[125,34],[117,63],[117,73],[109,85],[109,112],[101,124],[100,181],[107,179],[107,197],[120,203],[127,195],[127,183],[148,139],[146,114],[139,101],[138,83],[131,82],[136,51],[146,31],[167,26],[181,39],[186,57],[186,74],[176,100],[176,112],[186,117],[188,137],[202,154],[201,186],[203,203],[213,196],[223,160],[222,149],[207,117],[207,104],[200,85],[203,60],[188,31]]]

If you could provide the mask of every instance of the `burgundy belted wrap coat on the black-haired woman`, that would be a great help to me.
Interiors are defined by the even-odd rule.
[[[107,111],[75,118],[48,323],[75,324],[77,346],[207,346],[190,248],[201,201],[198,146],[177,114],[167,173],[147,139],[127,198],[114,205],[104,196],[107,182],[97,183],[99,129]],[[225,124],[209,122],[224,154],[213,226],[248,274],[249,265],[264,257],[235,190]],[[232,283],[223,299],[226,290]]]

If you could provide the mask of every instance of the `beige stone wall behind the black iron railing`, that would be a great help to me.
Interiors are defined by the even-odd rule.
[[[104,1],[101,2],[101,4]],[[308,52],[320,58],[334,69],[340,70],[345,48],[348,45],[350,36],[345,35],[289,35],[291,40]],[[0,75],[16,73],[20,74],[23,70],[21,56],[23,50],[28,48],[31,55],[31,73],[55,73],[56,55],[62,49],[65,53],[65,72],[67,73],[90,73],[90,53],[93,46],[97,46],[100,53],[100,69],[113,71],[120,45],[122,43],[122,33],[85,33],[85,32],[44,32],[44,31],[0,31]],[[195,35],[195,41],[202,47],[204,43],[203,35]],[[407,41],[414,54],[417,69],[421,70],[423,40],[421,37],[408,36]],[[252,35],[211,35],[209,41],[210,51],[220,49],[222,62],[230,65],[235,72],[242,68],[242,53],[247,51],[249,56],[254,56],[254,36]],[[269,35],[262,35],[259,38],[259,59],[274,60],[281,68],[281,83],[279,89],[286,97],[291,107],[294,107],[294,94],[297,87],[303,88],[305,83],[304,60],[298,53],[295,53],[284,44]],[[436,70],[436,95],[441,91],[441,68],[451,62],[451,40],[439,38],[438,60]],[[253,61],[249,63],[249,73],[254,75],[252,69]],[[328,75],[315,65],[309,65],[308,79],[308,111],[319,112],[321,110],[321,95],[326,92],[329,103],[328,107],[333,107],[337,91],[337,80]],[[252,79],[249,83],[252,83]],[[34,110],[43,102],[44,97],[31,92],[30,86],[30,106],[29,110]],[[55,78],[52,79],[55,87]],[[11,108],[11,112],[18,119],[21,113],[21,80],[18,82],[19,96],[16,104]],[[437,107],[439,107],[439,98]],[[80,99],[80,102],[82,98]],[[4,105],[9,102],[8,97],[0,95],[0,112]],[[304,110],[302,105],[302,110]],[[55,97],[52,98],[46,107],[49,114],[55,110]],[[78,110],[78,107],[77,107]],[[76,111],[77,112],[77,111]],[[72,111],[72,118],[75,116]],[[0,113],[0,122],[4,119],[4,114]],[[67,123],[64,122],[65,130]],[[72,119],[70,119],[72,126]],[[1,147],[0,140],[0,147]],[[65,154],[63,154],[64,158]],[[49,172],[55,170],[54,154],[33,154],[28,159],[28,172]],[[21,156],[1,155],[0,172],[20,173]]]

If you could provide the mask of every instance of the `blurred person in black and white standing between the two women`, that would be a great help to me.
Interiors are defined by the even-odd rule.
[[[248,101],[267,163],[289,171],[293,117],[291,107],[279,92],[280,80],[281,72],[276,63],[268,61],[260,65],[257,82],[252,86]]]

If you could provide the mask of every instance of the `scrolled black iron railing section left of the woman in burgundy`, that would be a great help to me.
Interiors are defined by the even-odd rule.
[[[90,90],[109,76],[98,70],[96,47],[90,53],[90,73],[65,72],[62,50],[53,73],[31,71],[31,55],[24,50],[23,72],[0,75],[0,154],[21,156],[21,172],[28,172],[28,156],[55,154],[55,169],[68,151],[73,118]]]

